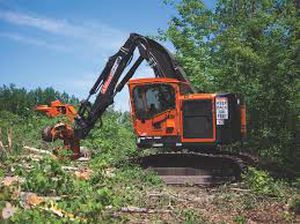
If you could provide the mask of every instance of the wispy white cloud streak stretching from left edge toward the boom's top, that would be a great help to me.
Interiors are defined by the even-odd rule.
[[[71,22],[66,19],[49,18],[37,14],[26,14],[16,11],[0,10],[0,20],[11,25],[31,28],[51,35],[65,37],[67,40],[64,42],[66,42],[67,45],[77,44],[88,48],[88,50],[107,51],[118,48],[128,35],[121,30],[112,28],[101,22]],[[28,43],[31,43],[31,41],[28,41]]]

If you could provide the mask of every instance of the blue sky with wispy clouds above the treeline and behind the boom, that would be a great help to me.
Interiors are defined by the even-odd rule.
[[[155,35],[176,14],[162,0],[0,0],[0,86],[53,87],[79,99],[130,33]],[[206,0],[213,8],[215,0]],[[170,43],[163,43],[171,51]],[[135,78],[152,77],[142,65]],[[115,108],[128,110],[127,87]]]

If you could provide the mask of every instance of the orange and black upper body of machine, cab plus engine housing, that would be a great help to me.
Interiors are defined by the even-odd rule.
[[[192,93],[172,78],[129,81],[138,146],[215,147],[241,140],[240,99],[234,94]]]

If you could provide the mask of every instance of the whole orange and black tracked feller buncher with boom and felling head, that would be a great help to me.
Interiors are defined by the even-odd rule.
[[[139,55],[132,62],[135,52]],[[132,79],[143,61],[155,77]],[[233,93],[196,92],[167,49],[136,33],[109,58],[73,123],[46,127],[43,139],[62,139],[77,159],[80,140],[89,135],[126,84],[138,148],[161,148],[138,159],[144,168],[155,170],[169,184],[218,183],[239,177],[245,156],[220,149],[245,138],[242,99]]]

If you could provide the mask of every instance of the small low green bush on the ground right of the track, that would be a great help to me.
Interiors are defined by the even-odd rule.
[[[248,171],[243,174],[243,179],[252,192],[257,195],[283,196],[283,183],[275,181],[266,171],[249,167]]]

